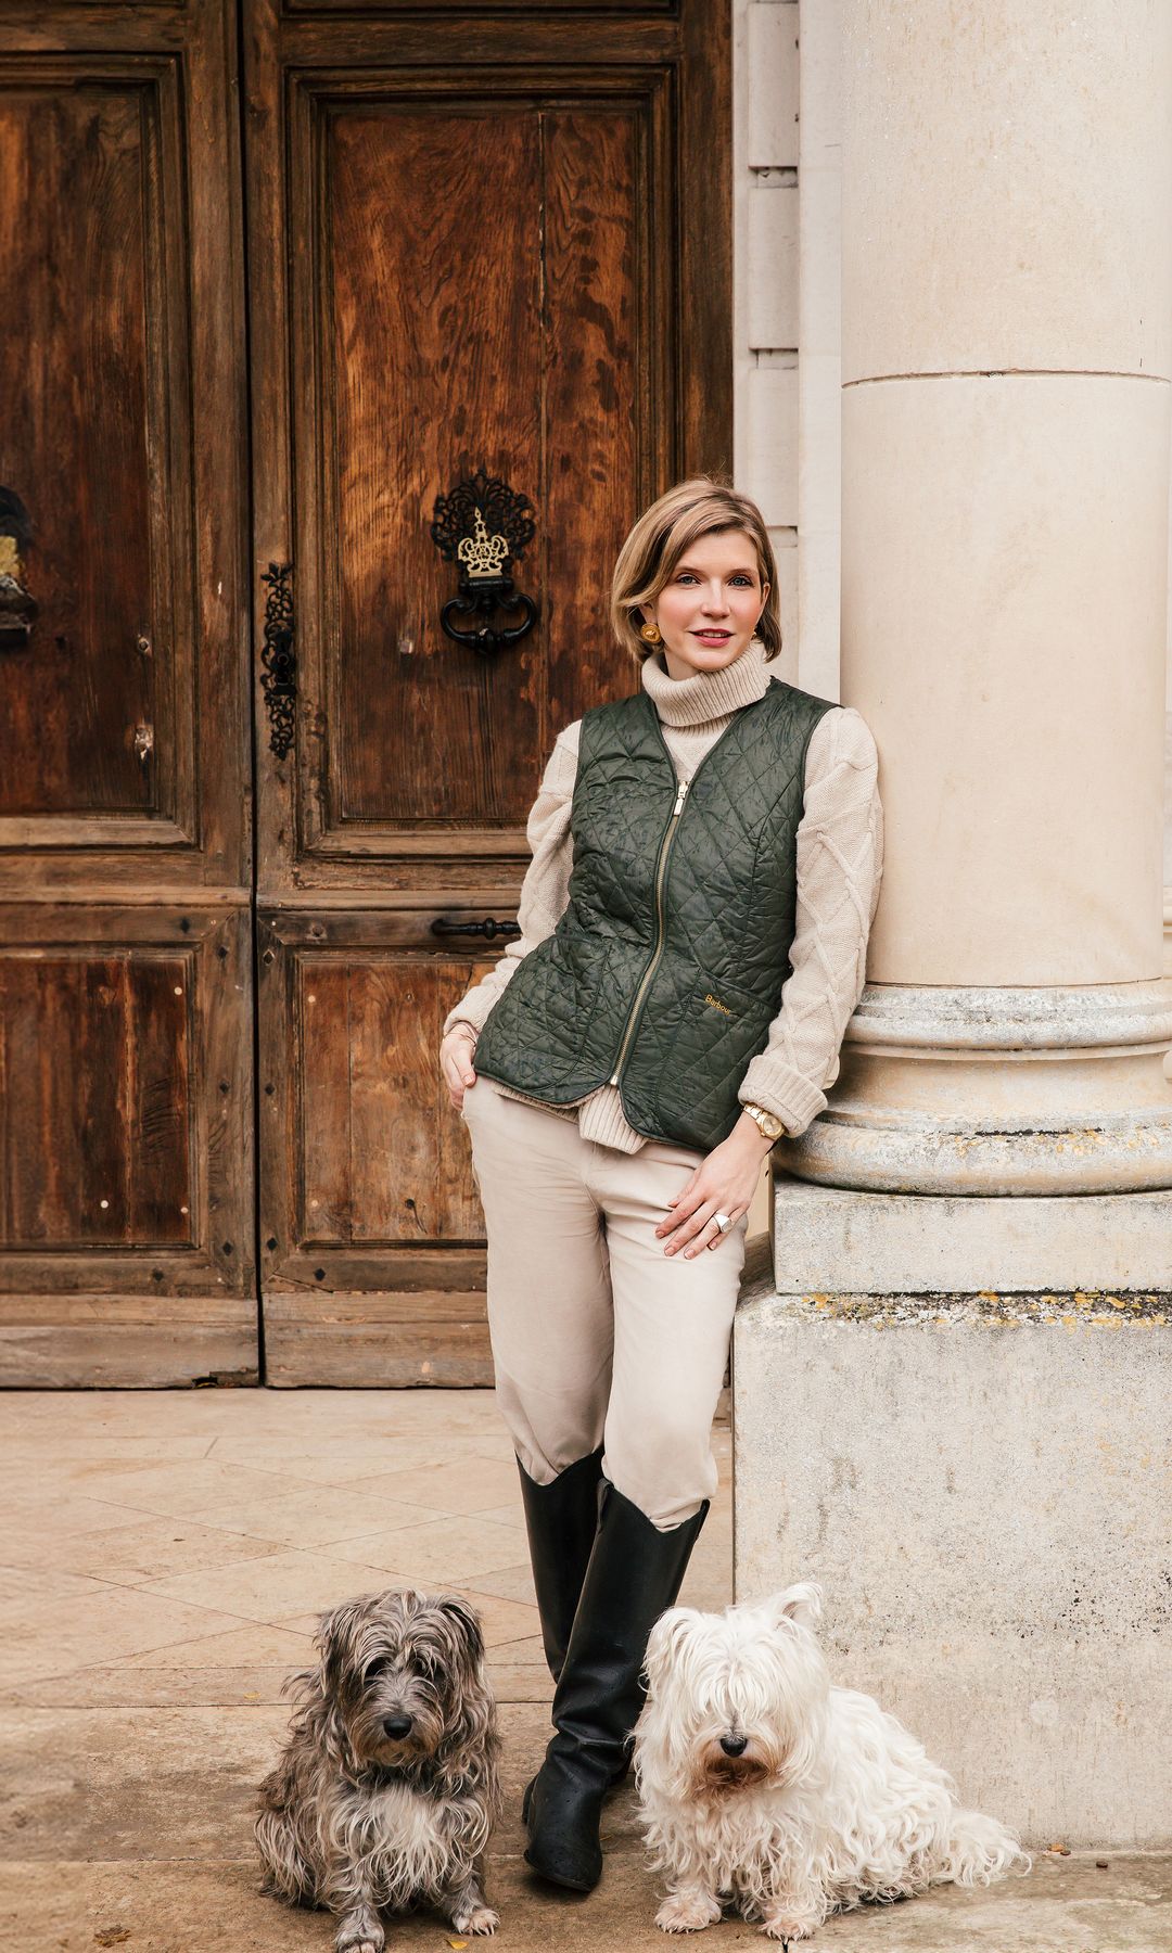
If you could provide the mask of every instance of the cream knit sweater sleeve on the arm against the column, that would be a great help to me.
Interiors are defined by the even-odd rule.
[[[826,713],[807,748],[797,830],[797,930],[781,1010],[740,1082],[740,1103],[764,1105],[805,1133],[838,1078],[838,1047],[863,992],[867,935],[883,873],[883,810],[875,740],[848,707]]]

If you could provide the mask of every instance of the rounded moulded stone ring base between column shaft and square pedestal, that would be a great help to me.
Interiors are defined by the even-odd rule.
[[[867,984],[801,1180],[889,1193],[1172,1187],[1172,984]]]

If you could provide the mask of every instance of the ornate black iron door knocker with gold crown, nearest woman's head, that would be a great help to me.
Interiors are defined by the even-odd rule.
[[[443,633],[481,654],[504,650],[533,629],[537,605],[514,586],[508,564],[533,539],[533,504],[496,475],[477,469],[449,494],[436,496],[432,541],[445,562],[459,562],[459,594],[440,611]],[[492,623],[496,611],[512,623]],[[461,627],[457,619],[467,619]],[[479,623],[477,623],[479,619]]]

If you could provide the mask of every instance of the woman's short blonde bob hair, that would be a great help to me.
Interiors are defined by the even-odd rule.
[[[611,582],[611,625],[623,650],[639,664],[654,650],[654,644],[639,637],[643,605],[654,603],[680,559],[701,535],[721,535],[725,529],[742,529],[756,549],[762,588],[770,586],[756,637],[766,646],[766,658],[775,658],[781,650],[777,564],[762,512],[746,494],[736,494],[711,475],[695,475],[652,502],[619,549]]]

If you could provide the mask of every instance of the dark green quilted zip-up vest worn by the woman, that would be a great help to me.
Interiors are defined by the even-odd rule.
[[[729,1137],[789,976],[811,732],[770,680],[682,787],[645,691],[582,719],[566,910],[492,1006],[477,1072],[549,1105],[619,1086],[647,1139]]]

